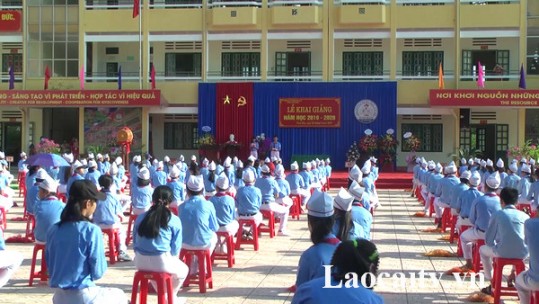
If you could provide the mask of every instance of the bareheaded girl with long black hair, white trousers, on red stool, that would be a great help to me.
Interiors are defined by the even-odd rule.
[[[178,259],[182,247],[182,222],[168,209],[172,198],[172,190],[167,186],[155,188],[152,207],[135,221],[133,248],[137,270],[170,273],[177,296],[189,269]],[[175,303],[182,301],[175,300]]]

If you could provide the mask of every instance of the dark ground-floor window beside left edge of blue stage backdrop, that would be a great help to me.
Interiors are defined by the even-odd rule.
[[[165,122],[164,133],[166,150],[198,148],[198,127],[195,122]]]

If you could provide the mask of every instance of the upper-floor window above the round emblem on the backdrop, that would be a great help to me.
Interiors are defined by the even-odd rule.
[[[343,52],[343,75],[371,76],[382,75],[384,52]]]

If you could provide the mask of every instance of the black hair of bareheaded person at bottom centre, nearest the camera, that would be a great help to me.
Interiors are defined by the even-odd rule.
[[[339,244],[333,258],[333,279],[336,281],[346,280],[345,276],[349,272],[354,272],[359,278],[366,273],[377,275],[380,257],[376,245],[365,239],[344,241]],[[370,275],[365,276],[365,287],[372,286]]]

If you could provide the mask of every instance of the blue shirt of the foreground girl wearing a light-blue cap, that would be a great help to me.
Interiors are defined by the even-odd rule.
[[[312,245],[305,250],[299,258],[298,273],[296,277],[296,287],[324,276],[323,265],[330,265],[331,258],[340,241],[334,234],[326,236],[325,241]]]

